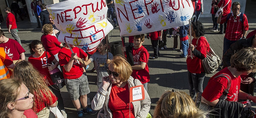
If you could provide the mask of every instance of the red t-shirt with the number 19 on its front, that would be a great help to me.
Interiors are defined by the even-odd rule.
[[[48,61],[46,61],[46,51],[44,51],[43,55],[40,57],[33,57],[33,55],[28,57],[28,61],[42,74],[45,76],[46,80],[49,82],[50,85],[53,85],[52,78],[48,69],[48,64],[51,63],[55,57],[47,52]],[[49,85],[48,85],[49,86]]]

